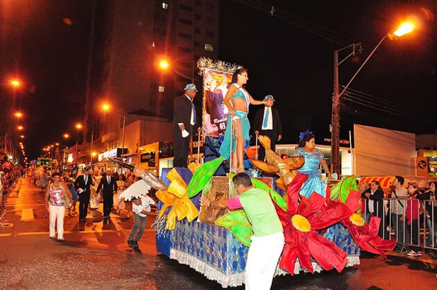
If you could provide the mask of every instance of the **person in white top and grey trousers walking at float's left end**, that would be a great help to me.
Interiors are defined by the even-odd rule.
[[[146,228],[147,214],[151,212],[151,204],[155,204],[155,201],[153,201],[151,197],[148,197],[148,195],[142,195],[140,198],[132,199],[134,225],[132,226],[132,230],[130,230],[128,246],[129,248],[133,248],[137,253],[141,253],[138,242]]]

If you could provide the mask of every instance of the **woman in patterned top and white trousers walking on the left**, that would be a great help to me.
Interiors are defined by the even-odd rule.
[[[44,195],[46,210],[49,210],[49,235],[52,239],[55,239],[55,224],[58,219],[58,240],[64,240],[64,215],[65,195],[71,200],[71,194],[65,183],[60,182],[60,173],[54,172],[52,175],[53,183],[49,184],[46,188],[46,194]]]

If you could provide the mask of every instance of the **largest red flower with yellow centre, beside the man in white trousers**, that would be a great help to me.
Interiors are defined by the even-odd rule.
[[[325,197],[313,192],[307,201],[298,201],[302,183],[307,174],[297,174],[287,188],[287,211],[275,203],[277,215],[284,228],[285,246],[280,260],[280,267],[294,273],[296,258],[302,269],[314,273],[311,257],[325,270],[333,267],[341,272],[348,262],[346,253],[336,244],[319,235],[321,230],[336,224],[350,216],[350,210],[344,203],[325,205]]]

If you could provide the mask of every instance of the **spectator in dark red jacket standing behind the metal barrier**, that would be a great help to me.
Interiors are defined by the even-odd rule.
[[[416,199],[419,194],[418,190],[418,183],[410,183],[408,185],[408,194],[409,194],[409,201],[406,201],[406,228],[409,230],[409,233],[411,235],[410,242],[411,243],[411,250],[406,253],[406,255],[409,256],[420,256],[422,255],[422,248],[420,248],[420,242],[419,242],[419,201]]]

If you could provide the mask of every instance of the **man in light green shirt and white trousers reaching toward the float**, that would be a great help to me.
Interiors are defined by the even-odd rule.
[[[253,188],[248,174],[239,173],[232,181],[239,195],[226,201],[210,202],[205,197],[200,201],[213,208],[243,208],[253,229],[246,260],[246,289],[270,289],[284,248],[280,219],[271,197],[264,190]]]

